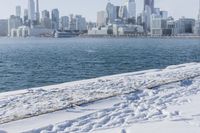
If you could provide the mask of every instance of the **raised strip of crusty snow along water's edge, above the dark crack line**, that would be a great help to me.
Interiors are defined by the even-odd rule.
[[[200,76],[200,64],[127,73],[0,94],[0,123]]]

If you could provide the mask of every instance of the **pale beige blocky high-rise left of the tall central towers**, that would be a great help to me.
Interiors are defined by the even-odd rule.
[[[106,12],[99,11],[97,12],[97,26],[102,27],[106,25]]]

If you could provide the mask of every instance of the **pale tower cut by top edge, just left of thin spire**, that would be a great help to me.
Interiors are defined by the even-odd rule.
[[[28,19],[33,22],[35,18],[35,2],[34,0],[28,0]]]

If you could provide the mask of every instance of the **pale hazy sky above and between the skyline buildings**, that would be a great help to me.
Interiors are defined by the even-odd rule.
[[[28,0],[0,0],[0,18],[8,18],[15,14],[15,6],[27,8]],[[39,0],[40,11],[58,8],[61,15],[82,14],[88,21],[96,21],[96,12],[104,10],[108,0]],[[123,0],[110,0],[115,5],[121,5]],[[137,14],[142,11],[144,0],[136,0]],[[181,16],[197,18],[199,0],[155,0],[155,7],[169,11],[176,19]]]

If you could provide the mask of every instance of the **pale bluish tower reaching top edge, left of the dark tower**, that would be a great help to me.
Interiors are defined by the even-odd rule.
[[[135,0],[126,0],[128,18],[136,18],[136,3]]]

